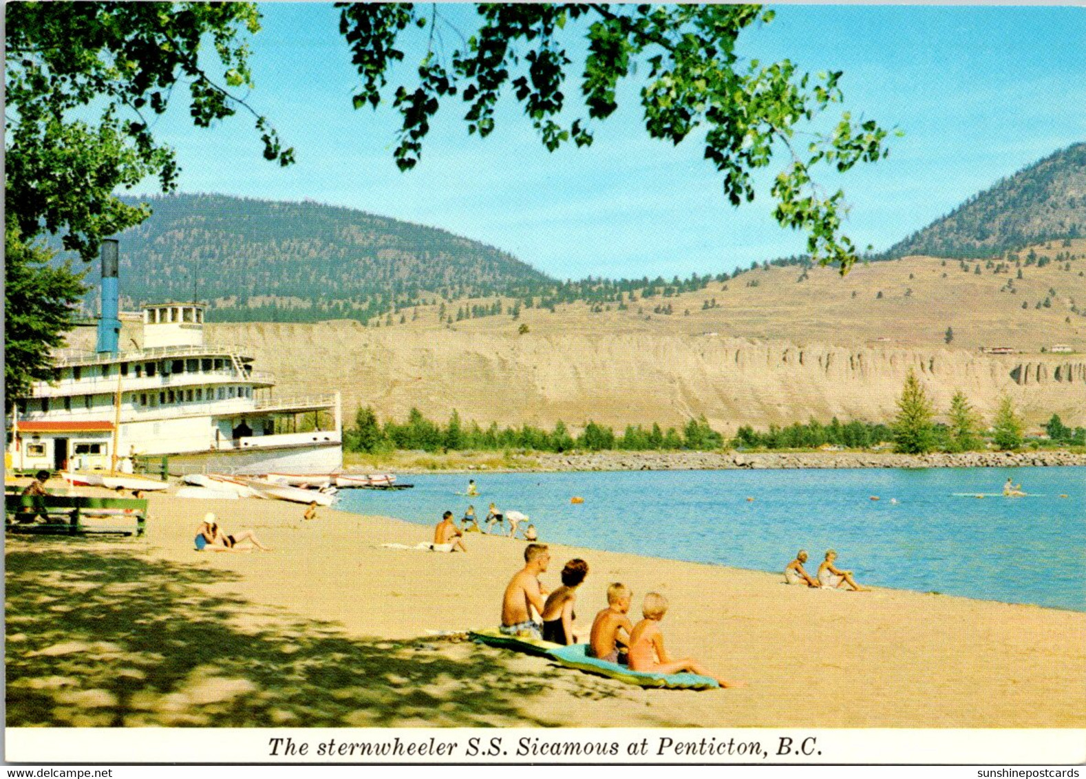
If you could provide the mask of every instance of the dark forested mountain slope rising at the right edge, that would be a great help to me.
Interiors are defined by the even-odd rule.
[[[1086,143],[1075,143],[975,194],[881,259],[992,257],[1030,243],[1083,236]]]

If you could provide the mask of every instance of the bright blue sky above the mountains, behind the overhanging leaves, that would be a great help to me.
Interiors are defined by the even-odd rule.
[[[453,22],[469,21],[468,9],[440,8]],[[771,24],[741,35],[741,55],[844,71],[846,102],[832,116],[849,110],[905,131],[887,160],[819,175],[825,187],[845,189],[845,231],[859,247],[886,249],[999,178],[1086,139],[1086,9],[775,8]],[[178,90],[155,133],[177,150],[181,191],[308,199],[441,227],[559,278],[719,273],[804,251],[803,235],[772,219],[768,185],[734,209],[696,137],[678,147],[647,137],[636,83],[619,92],[614,116],[594,124],[591,148],[555,153],[512,96],[487,139],[468,136],[463,105],[449,101],[419,165],[400,173],[391,101],[377,111],[351,108],[357,76],[336,9],[261,10],[249,102],[294,147],[298,163],[265,162],[242,114],[192,127]],[[457,40],[455,33],[446,29],[444,40]],[[570,99],[581,72],[571,59]],[[408,53],[405,70],[415,65]]]

